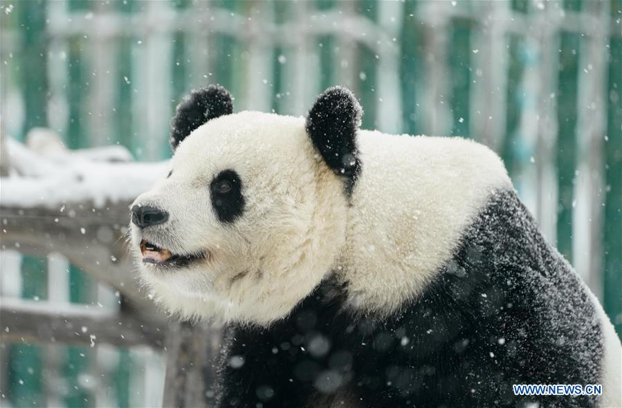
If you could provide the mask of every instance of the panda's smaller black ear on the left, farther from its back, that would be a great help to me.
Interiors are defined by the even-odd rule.
[[[233,112],[231,94],[223,86],[210,85],[194,89],[177,105],[171,122],[171,147],[173,150],[194,129],[222,115]]]

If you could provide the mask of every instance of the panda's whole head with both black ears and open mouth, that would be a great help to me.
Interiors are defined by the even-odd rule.
[[[267,325],[309,295],[345,243],[361,114],[337,87],[307,118],[232,113],[223,87],[192,91],[172,120],[167,175],[131,206],[133,252],[158,302]]]

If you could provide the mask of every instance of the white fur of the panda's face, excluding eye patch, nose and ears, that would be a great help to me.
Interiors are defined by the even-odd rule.
[[[210,200],[210,181],[224,169],[237,171],[246,200],[232,225],[216,219]],[[313,290],[345,242],[342,183],[315,154],[302,118],[242,112],[211,120],[181,142],[172,170],[135,201],[170,213],[145,238],[176,254],[212,254],[184,270],[141,266],[172,313],[269,324]],[[140,257],[136,228],[132,237]]]

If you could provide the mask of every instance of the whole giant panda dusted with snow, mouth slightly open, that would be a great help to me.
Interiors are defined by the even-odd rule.
[[[154,297],[226,327],[219,406],[621,406],[612,324],[493,151],[362,130],[340,87],[306,118],[232,110],[192,91],[131,207]]]

